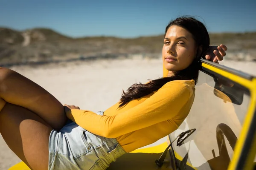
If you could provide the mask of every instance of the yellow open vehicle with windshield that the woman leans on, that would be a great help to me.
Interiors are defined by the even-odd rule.
[[[201,66],[195,101],[183,124],[154,144],[121,156],[108,170],[256,168],[256,77],[204,59]],[[195,131],[180,138],[191,129]],[[160,167],[155,161],[167,148]],[[20,162],[9,170],[29,168]]]

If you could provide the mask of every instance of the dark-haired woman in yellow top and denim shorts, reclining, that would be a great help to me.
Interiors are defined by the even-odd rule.
[[[209,35],[198,20],[181,17],[166,27],[163,43],[165,77],[132,85],[118,103],[97,114],[63,107],[31,80],[0,68],[3,139],[33,170],[97,170],[172,133],[192,106]],[[227,49],[218,49],[221,54],[214,54],[221,58]]]

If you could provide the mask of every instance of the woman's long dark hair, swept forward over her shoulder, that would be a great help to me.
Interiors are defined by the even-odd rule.
[[[135,83],[131,85],[127,89],[127,91],[122,91],[122,97],[120,99],[119,108],[126,105],[128,102],[134,99],[139,99],[143,96],[151,94],[153,91],[157,91],[160,89],[164,84],[173,80],[195,80],[195,84],[198,81],[198,74],[199,74],[199,60],[204,55],[204,53],[209,48],[210,38],[207,29],[205,28],[204,24],[200,21],[196,20],[193,17],[178,17],[175,20],[172,20],[167,26],[165,30],[165,35],[168,29],[171,26],[180,26],[187,31],[189,31],[196,42],[197,46],[202,47],[202,53],[197,54],[195,59],[192,63],[185,69],[176,71],[175,75],[172,77],[163,77],[160,79],[149,80],[148,83],[142,84],[141,82]]]

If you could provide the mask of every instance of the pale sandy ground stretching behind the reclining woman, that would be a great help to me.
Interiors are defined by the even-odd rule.
[[[256,62],[223,61],[237,70],[256,76]],[[161,59],[116,59],[93,62],[49,64],[37,67],[16,66],[13,70],[32,79],[61,103],[91,111],[105,110],[115,104],[122,89],[135,82],[162,76]],[[20,162],[0,136],[0,170]]]

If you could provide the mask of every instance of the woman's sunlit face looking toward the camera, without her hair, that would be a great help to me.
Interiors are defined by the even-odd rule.
[[[163,64],[169,75],[187,68],[196,57],[197,45],[192,34],[180,26],[171,26],[163,43]]]

